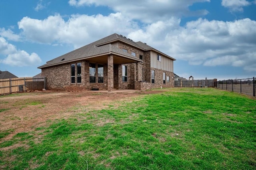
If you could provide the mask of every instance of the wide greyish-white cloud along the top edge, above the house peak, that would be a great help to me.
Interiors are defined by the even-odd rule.
[[[70,0],[70,6],[108,6],[115,12],[121,12],[124,16],[141,20],[144,23],[152,23],[158,20],[168,20],[171,17],[204,16],[207,10],[190,11],[189,6],[198,2],[210,2],[210,0]]]

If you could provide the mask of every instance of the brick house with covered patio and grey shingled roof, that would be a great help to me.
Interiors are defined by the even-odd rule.
[[[53,90],[146,90],[174,87],[175,59],[125,36],[112,34],[38,67]]]

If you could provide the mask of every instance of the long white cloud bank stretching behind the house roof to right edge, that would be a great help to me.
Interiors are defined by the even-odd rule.
[[[66,21],[56,14],[44,20],[24,17],[18,26],[27,40],[39,43],[72,44],[78,48],[118,33],[191,65],[230,65],[253,71],[256,63],[256,21],[249,18],[232,22],[200,18],[180,26],[180,19],[171,17],[139,27],[121,13],[76,14]]]

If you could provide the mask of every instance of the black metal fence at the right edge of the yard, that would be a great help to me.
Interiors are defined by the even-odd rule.
[[[255,97],[256,78],[243,78],[236,80],[221,80],[217,82],[217,88],[231,92],[243,93]]]

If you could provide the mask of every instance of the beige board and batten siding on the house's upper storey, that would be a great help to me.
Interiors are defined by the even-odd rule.
[[[157,69],[162,69],[165,71],[173,72],[173,60],[170,58],[167,58],[165,56],[161,56],[161,61],[157,60],[157,53],[151,51],[151,67],[152,68],[157,68]]]

